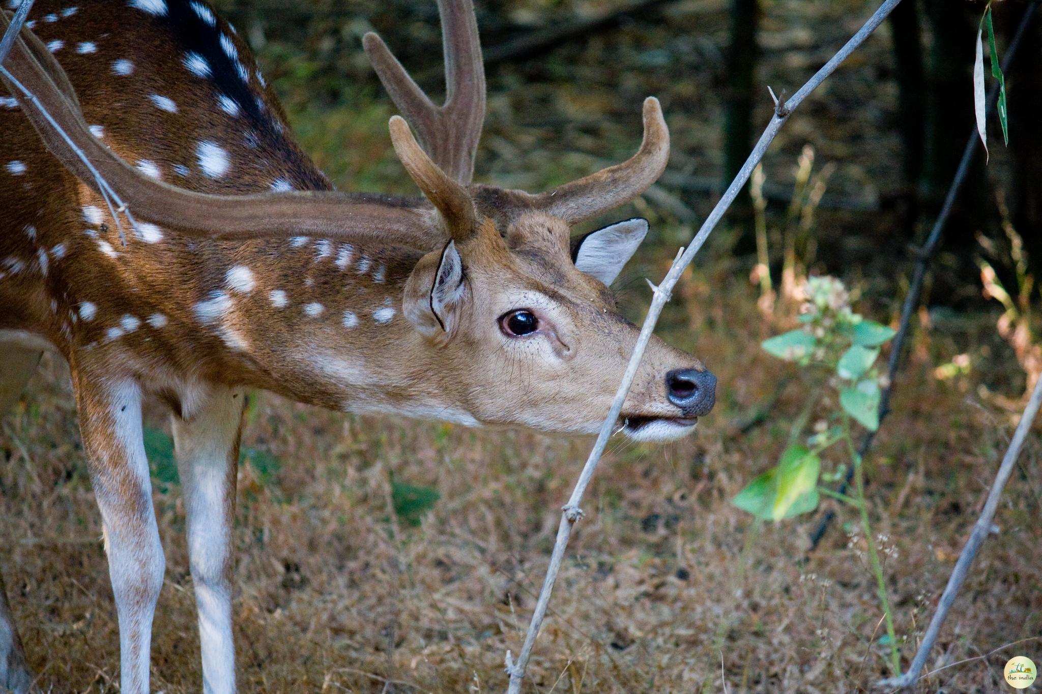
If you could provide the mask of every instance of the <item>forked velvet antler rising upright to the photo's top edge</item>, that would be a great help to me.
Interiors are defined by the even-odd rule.
[[[375,33],[363,46],[380,82],[416,128],[430,158],[453,180],[474,177],[485,122],[485,66],[472,0],[438,0],[445,54],[445,103],[436,106]]]

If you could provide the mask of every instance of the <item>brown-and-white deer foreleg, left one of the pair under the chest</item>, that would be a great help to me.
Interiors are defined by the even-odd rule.
[[[101,509],[120,625],[123,694],[147,694],[152,616],[166,562],[142,440],[141,388],[132,379],[74,372],[79,427]]]

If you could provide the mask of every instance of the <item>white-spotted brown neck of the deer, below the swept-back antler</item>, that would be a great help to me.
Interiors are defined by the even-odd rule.
[[[190,320],[220,378],[333,409],[393,410],[406,392],[439,404],[417,390],[425,350],[401,306],[424,251],[303,236],[215,246]]]

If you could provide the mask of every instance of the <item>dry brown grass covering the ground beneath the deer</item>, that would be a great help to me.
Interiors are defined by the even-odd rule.
[[[794,385],[766,426],[743,436],[729,425],[779,375],[758,348],[770,327],[729,275],[689,276],[667,327],[719,375],[718,410],[691,440],[613,445],[526,692],[715,692],[724,680],[730,692],[849,692],[886,674],[884,649],[873,644],[882,634],[873,582],[842,522],[807,557],[810,518],[758,526],[728,504],[772,462],[799,402]],[[1014,419],[978,390],[975,371],[934,378],[933,366],[956,353],[951,335],[917,341],[868,467],[877,532],[898,550],[886,571],[898,634],[910,641],[943,588]],[[53,365],[33,386],[0,436],[2,569],[45,689],[116,691],[116,615],[68,386]],[[165,426],[158,411],[148,418]],[[279,466],[240,471],[233,610],[244,691],[505,688],[503,654],[520,647],[556,508],[588,442],[353,417],[266,394],[245,442]],[[1040,454],[1035,438],[931,668],[1042,636],[1033,550],[1042,539]],[[392,473],[441,493],[420,526],[395,516]],[[183,508],[176,486],[156,487],[167,585],[153,687],[198,691]],[[848,510],[840,517],[854,520]],[[922,691],[1000,691],[1002,663],[1038,654],[1040,643],[944,670]]]

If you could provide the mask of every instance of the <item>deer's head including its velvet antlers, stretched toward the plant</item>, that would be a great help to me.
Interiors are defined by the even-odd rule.
[[[320,368],[314,360],[266,363],[273,376],[259,385],[345,409],[595,433],[639,333],[616,310],[607,285],[643,240],[647,223],[619,222],[581,238],[572,238],[571,228],[629,202],[659,178],[669,155],[662,110],[655,99],[645,100],[641,147],[618,165],[535,195],[474,184],[485,118],[476,20],[470,0],[440,0],[439,8],[447,85],[442,106],[378,36],[364,40],[404,115],[391,119],[391,143],[423,194],[420,201],[184,190],[143,175],[94,137],[60,66],[28,30],[0,76],[48,149],[96,190],[125,201],[139,220],[202,238],[309,235],[398,249],[396,257],[407,262],[386,278],[383,288],[393,293],[387,320],[355,331],[353,342],[306,335],[321,342],[322,354],[355,368]],[[287,339],[303,334],[280,329]],[[701,362],[652,338],[620,427],[637,439],[688,434],[712,409],[715,386]]]

